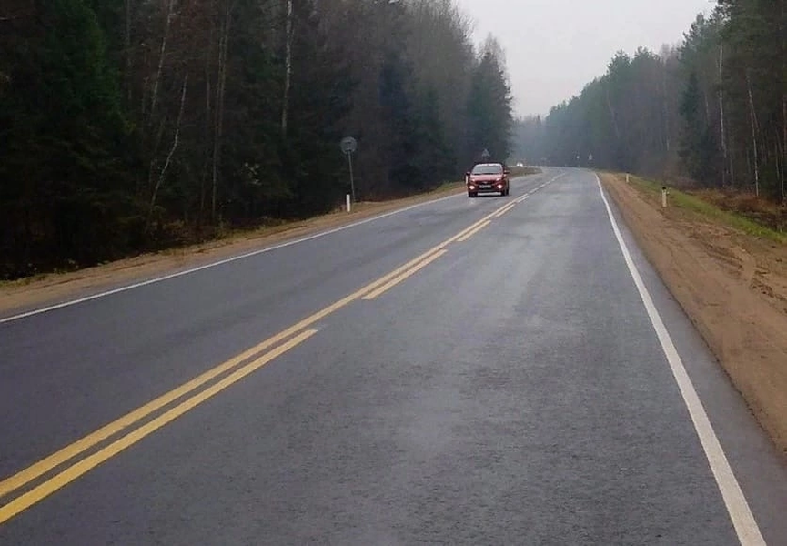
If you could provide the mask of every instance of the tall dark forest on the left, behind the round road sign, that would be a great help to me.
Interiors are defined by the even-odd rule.
[[[508,157],[495,39],[453,0],[9,0],[0,278],[399,197]]]

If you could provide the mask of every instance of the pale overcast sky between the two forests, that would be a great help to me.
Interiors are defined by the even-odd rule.
[[[678,44],[709,0],[457,0],[506,52],[518,115],[547,114],[606,72],[616,51]]]

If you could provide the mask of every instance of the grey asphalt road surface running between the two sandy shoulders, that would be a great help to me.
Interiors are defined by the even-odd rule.
[[[587,171],[0,323],[3,545],[783,545],[785,511]]]

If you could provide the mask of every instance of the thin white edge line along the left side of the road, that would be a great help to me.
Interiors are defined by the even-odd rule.
[[[219,260],[219,261],[216,261],[216,262],[211,262],[209,264],[205,264],[205,265],[199,266],[197,268],[189,268],[189,269],[185,269],[183,271],[178,271],[177,273],[172,273],[170,275],[165,275],[164,277],[149,278],[149,279],[144,280],[142,282],[136,282],[134,284],[126,285],[124,287],[113,288],[111,290],[105,290],[103,292],[99,292],[99,293],[93,294],[91,296],[86,296],[85,298],[69,299],[69,300],[64,301],[62,303],[57,303],[55,305],[50,305],[50,306],[47,306],[45,308],[33,309],[33,310],[30,310],[30,311],[26,311],[25,313],[20,313],[18,315],[12,315],[11,317],[6,317],[5,319],[0,319],[0,324],[4,324],[6,322],[13,322],[14,320],[19,320],[19,319],[26,319],[27,317],[33,317],[35,315],[40,315],[40,314],[43,314],[43,313],[47,313],[49,311],[55,311],[57,309],[71,307],[71,306],[74,306],[74,305],[77,305],[77,304],[80,304],[80,303],[85,303],[87,301],[92,301],[92,300],[98,299],[98,298],[106,298],[107,296],[112,296],[114,294],[119,294],[121,292],[126,292],[128,290],[133,290],[135,288],[146,287],[147,285],[152,285],[152,284],[155,284],[157,282],[162,282],[162,281],[165,281],[165,280],[169,280],[171,278],[184,277],[184,276],[190,275],[192,273],[197,273],[197,271],[202,271],[204,269],[209,269],[209,268],[217,268],[218,266],[223,266],[225,264],[228,264],[228,263],[231,263],[231,262],[234,262],[234,261],[237,261],[237,260],[246,259],[246,258],[253,258],[253,257],[258,256],[260,254],[265,254],[266,252],[271,252],[271,251],[277,250],[279,248],[291,247],[293,245],[298,245],[300,243],[305,243],[307,241],[310,241],[310,240],[313,240],[313,239],[316,239],[316,238],[326,237],[328,235],[332,235],[334,233],[338,233],[339,231],[344,231],[345,229],[350,229],[352,227],[362,226],[363,224],[368,224],[370,222],[375,222],[375,221],[380,220],[382,218],[391,217],[391,216],[400,214],[402,212],[407,212],[408,210],[412,210],[413,208],[424,207],[426,205],[433,205],[435,203],[439,203],[440,201],[446,201],[448,199],[454,199],[456,197],[462,197],[463,195],[464,194],[457,194],[457,195],[448,196],[448,197],[440,197],[439,199],[432,199],[431,201],[424,201],[423,203],[416,203],[415,205],[410,205],[409,207],[399,208],[397,210],[393,210],[391,212],[387,212],[385,214],[378,215],[376,217],[370,217],[370,218],[366,218],[366,219],[363,219],[363,220],[359,220],[358,222],[354,222],[352,224],[348,224],[347,226],[334,227],[333,229],[329,229],[328,231],[321,231],[319,233],[315,233],[315,234],[309,235],[307,237],[298,238],[298,239],[294,239],[294,240],[291,240],[291,241],[287,241],[285,243],[274,245],[273,247],[261,248],[259,250],[254,250],[252,252],[247,252],[245,254],[240,254],[238,256],[233,256],[231,258],[226,258],[226,259],[222,259],[222,260]]]

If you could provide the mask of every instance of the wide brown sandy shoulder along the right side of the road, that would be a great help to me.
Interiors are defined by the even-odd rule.
[[[776,446],[787,453],[787,246],[600,174],[651,264]]]

